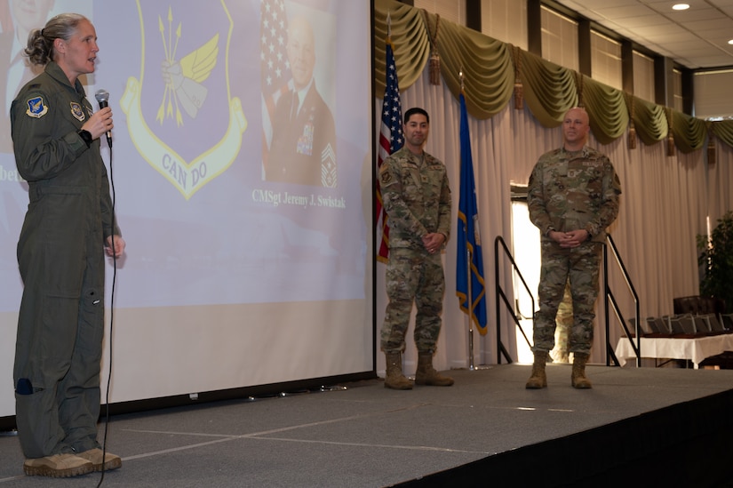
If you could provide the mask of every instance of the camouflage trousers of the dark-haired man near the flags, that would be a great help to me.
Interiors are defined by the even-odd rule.
[[[382,324],[382,350],[386,353],[404,351],[404,339],[414,301],[418,309],[415,317],[415,346],[418,352],[434,352],[441,332],[444,291],[445,277],[439,253],[390,249],[386,265],[389,303]]]

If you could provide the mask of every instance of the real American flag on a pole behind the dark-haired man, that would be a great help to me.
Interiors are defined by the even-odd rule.
[[[399,148],[402,148],[402,107],[400,103],[400,86],[397,83],[397,67],[394,64],[392,40],[386,40],[386,86],[382,101],[382,124],[379,130],[379,153],[377,167],[380,168],[386,159]],[[378,171],[377,171],[378,172]],[[379,251],[377,259],[385,262],[389,256],[389,225],[386,212],[382,206],[382,192],[377,178],[377,242]]]

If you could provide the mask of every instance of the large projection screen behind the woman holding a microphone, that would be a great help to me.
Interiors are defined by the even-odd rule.
[[[109,403],[373,372],[370,2],[20,4],[0,0],[0,417],[28,205],[7,114],[30,15],[92,20],[85,90],[114,113],[102,157],[127,250],[107,262]]]

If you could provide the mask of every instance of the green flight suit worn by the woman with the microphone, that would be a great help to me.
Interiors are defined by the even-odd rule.
[[[90,116],[82,84],[55,62],[12,102],[15,162],[30,201],[18,242],[24,289],[13,369],[28,458],[99,447],[104,241],[119,231],[100,140],[87,147],[78,134]]]

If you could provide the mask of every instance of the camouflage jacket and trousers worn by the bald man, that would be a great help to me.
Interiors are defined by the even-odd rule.
[[[555,149],[540,156],[530,176],[530,220],[541,234],[539,310],[534,320],[534,351],[554,347],[555,316],[567,281],[573,305],[570,352],[590,354],[594,303],[606,228],[618,215],[621,184],[609,158],[593,148]],[[586,229],[589,239],[562,248],[551,231]]]

